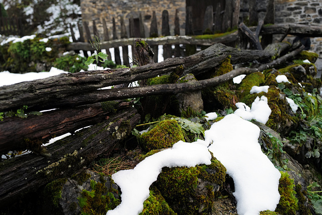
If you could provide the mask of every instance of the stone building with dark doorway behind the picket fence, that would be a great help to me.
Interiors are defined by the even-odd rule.
[[[233,1],[233,0],[230,0]],[[240,0],[239,21],[245,21],[248,16],[248,2]],[[228,1],[227,1],[228,2]],[[257,0],[256,7],[259,17],[266,13],[267,0]],[[174,35],[174,19],[176,10],[180,19],[180,34],[185,35],[186,8],[192,7],[193,29],[195,33],[202,33],[204,14],[207,6],[212,6],[214,13],[218,7],[221,13],[225,8],[225,0],[81,0],[83,22],[89,22],[93,32],[93,20],[95,21],[101,39],[103,39],[103,19],[109,29],[112,39],[112,19],[115,19],[117,38],[120,38],[121,17],[124,19],[127,35],[130,36],[130,21],[134,21],[135,37],[139,37],[140,20],[144,26],[144,36],[149,37],[153,11],[157,20],[158,35],[162,36],[162,12],[169,13],[170,34]],[[218,10],[217,10],[218,11]],[[141,18],[140,18],[141,17]],[[275,0],[275,23],[297,23],[322,28],[322,1],[320,0]],[[322,54],[322,38],[311,38],[311,50]]]

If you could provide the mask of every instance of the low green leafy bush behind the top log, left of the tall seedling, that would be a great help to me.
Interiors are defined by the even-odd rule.
[[[57,69],[62,69],[71,73],[79,72],[82,69],[88,70],[88,66],[84,65],[86,58],[79,55],[63,55],[59,58],[56,58],[53,66]]]

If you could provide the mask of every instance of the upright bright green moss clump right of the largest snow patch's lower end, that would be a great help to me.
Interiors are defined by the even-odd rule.
[[[276,212],[282,215],[296,214],[299,207],[294,187],[294,180],[289,178],[289,174],[287,172],[281,171],[281,178],[278,186],[278,191],[281,197],[276,207]]]

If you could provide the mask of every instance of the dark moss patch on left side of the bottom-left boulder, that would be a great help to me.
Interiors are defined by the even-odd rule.
[[[66,178],[54,180],[47,184],[43,191],[44,196],[46,196],[55,207],[59,206],[59,199],[61,199],[62,187],[64,186],[66,181]]]

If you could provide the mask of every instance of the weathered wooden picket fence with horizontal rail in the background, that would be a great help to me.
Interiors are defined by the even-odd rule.
[[[237,10],[235,13],[237,15],[239,14],[239,10]],[[186,20],[186,34],[188,35],[193,35],[193,23],[190,22],[190,17],[191,17],[191,10],[187,10],[187,20]],[[207,33],[213,33],[215,30],[214,28],[214,17],[213,17],[213,8],[212,6],[209,6],[205,12],[204,16],[204,25],[203,25],[203,31]],[[236,19],[238,17],[237,15],[231,15],[231,18]],[[223,16],[223,15],[222,15]],[[140,16],[141,17],[141,16]],[[154,62],[157,62],[158,59],[158,45],[163,45],[163,57],[164,59],[169,58],[169,57],[184,57],[184,56],[189,56],[191,54],[196,53],[197,51],[197,45],[203,46],[202,48],[205,48],[204,46],[210,46],[213,45],[214,43],[223,43],[225,45],[235,45],[235,41],[237,39],[237,32],[234,34],[231,34],[227,37],[220,37],[220,38],[214,38],[214,39],[203,39],[203,40],[198,40],[192,36],[171,36],[170,35],[170,25],[169,25],[169,14],[168,11],[164,11],[162,13],[162,36],[165,37],[158,37],[158,31],[157,31],[157,22],[156,22],[156,17],[155,13],[152,15],[151,19],[151,25],[150,25],[150,32],[149,36],[150,38],[144,38],[144,33],[140,32],[140,38],[143,38],[152,48],[154,52],[154,57],[153,60]],[[166,22],[165,22],[166,21]],[[93,51],[95,50],[92,45],[89,43],[89,41],[93,41],[93,36],[97,36],[98,38],[101,38],[101,49],[105,49],[107,54],[109,55],[109,59],[111,56],[110,53],[110,48],[114,48],[114,60],[116,64],[124,64],[124,65],[129,65],[129,55],[134,56],[133,53],[129,54],[129,49],[128,46],[131,45],[133,46],[133,43],[137,37],[135,37],[135,29],[134,29],[134,21],[133,18],[129,19],[129,34],[126,31],[126,26],[124,23],[123,18],[121,17],[120,19],[120,35],[117,35],[116,31],[116,23],[115,19],[113,18],[112,23],[113,23],[113,28],[112,28],[112,38],[113,40],[110,40],[110,34],[109,34],[109,29],[107,28],[106,21],[105,19],[102,20],[103,24],[103,35],[99,35],[97,24],[95,21],[92,21],[92,32],[90,31],[89,28],[89,23],[86,21],[83,21],[83,25],[78,24],[78,30],[79,30],[79,35],[81,37],[79,39],[75,39],[74,37],[74,32],[71,26],[70,31],[72,35],[72,40],[74,43],[70,44],[68,46],[68,50],[83,50],[85,57],[88,57],[87,51]],[[180,35],[180,20],[178,16],[178,10],[176,10],[176,16],[175,16],[175,35]],[[233,25],[237,25],[237,21],[231,22]],[[143,22],[142,19],[139,19],[139,29],[142,30]],[[227,25],[222,25],[225,30],[228,28],[231,29],[232,25],[230,26]],[[84,32],[85,34],[84,34]],[[129,35],[129,38],[128,38]],[[118,39],[121,38],[121,39]],[[87,42],[85,42],[87,41]],[[122,49],[119,49],[119,47],[122,47]],[[122,54],[120,54],[120,50],[122,51]],[[134,50],[133,47],[131,50]],[[201,48],[200,48],[201,50]],[[121,61],[121,56],[123,56],[123,61]]]

